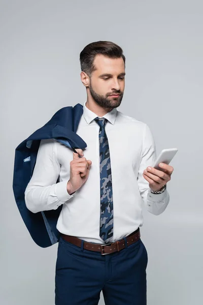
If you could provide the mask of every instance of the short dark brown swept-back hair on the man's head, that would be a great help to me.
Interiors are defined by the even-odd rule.
[[[117,44],[111,41],[95,41],[86,45],[80,53],[81,71],[85,72],[89,77],[96,70],[94,66],[94,57],[102,54],[110,58],[122,57],[125,64],[125,56],[123,50]]]

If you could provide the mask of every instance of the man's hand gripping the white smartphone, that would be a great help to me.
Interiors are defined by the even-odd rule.
[[[172,166],[165,163],[159,163],[159,166],[164,172],[151,166],[148,166],[143,172],[144,178],[149,182],[149,187],[153,191],[159,191],[164,185],[166,185],[166,183],[171,180],[171,175],[174,171]]]

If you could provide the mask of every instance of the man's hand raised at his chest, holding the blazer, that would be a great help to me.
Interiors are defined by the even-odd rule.
[[[70,162],[70,179],[67,182],[67,192],[72,195],[78,189],[82,187],[89,176],[89,170],[92,162],[86,158],[80,158],[84,156],[83,150],[77,148],[78,154],[73,151],[73,160]]]

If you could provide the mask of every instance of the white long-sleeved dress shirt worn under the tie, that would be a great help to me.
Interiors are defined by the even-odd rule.
[[[92,164],[84,185],[73,195],[67,193],[73,151],[55,139],[43,139],[25,190],[25,203],[33,213],[57,209],[62,204],[56,226],[58,231],[104,244],[99,236],[99,126],[95,117],[97,115],[86,107],[85,102],[77,134],[86,142],[84,157]],[[170,196],[167,187],[162,194],[152,194],[149,182],[143,177],[143,171],[156,160],[155,143],[148,125],[116,108],[103,117],[108,119],[105,130],[112,172],[114,227],[109,242],[114,242],[143,225],[143,203],[149,212],[159,215],[165,210]],[[58,176],[59,182],[56,183]]]

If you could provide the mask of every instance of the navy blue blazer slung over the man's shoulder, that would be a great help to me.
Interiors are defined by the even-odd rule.
[[[32,239],[43,248],[52,246],[59,240],[60,232],[56,229],[56,224],[62,205],[56,210],[32,213],[25,205],[25,189],[35,168],[42,139],[54,138],[70,148],[87,147],[85,141],[76,134],[82,114],[81,104],[59,109],[43,127],[32,133],[15,149],[13,173],[15,201]],[[56,183],[58,182],[59,179]]]

